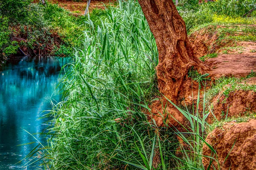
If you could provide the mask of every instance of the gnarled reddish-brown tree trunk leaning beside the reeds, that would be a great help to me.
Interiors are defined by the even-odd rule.
[[[157,43],[159,91],[176,103],[189,69],[193,66],[202,72],[207,66],[195,57],[185,22],[172,0],[138,1]]]

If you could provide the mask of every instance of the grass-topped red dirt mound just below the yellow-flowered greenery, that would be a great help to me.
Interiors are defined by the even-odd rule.
[[[244,37],[255,36],[254,30],[256,25],[207,26],[193,32],[189,40],[197,57],[212,53],[251,55],[256,52],[256,42]]]

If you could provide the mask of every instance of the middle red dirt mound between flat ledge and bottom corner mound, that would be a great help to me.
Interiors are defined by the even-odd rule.
[[[213,113],[220,121],[226,117],[244,116],[246,113],[256,112],[256,93],[254,91],[232,91],[225,95],[220,93],[212,99]],[[208,116],[208,122],[212,123],[212,114]]]

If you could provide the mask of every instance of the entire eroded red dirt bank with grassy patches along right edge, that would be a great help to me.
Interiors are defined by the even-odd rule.
[[[203,155],[215,160],[204,157],[206,170],[208,167],[211,170],[256,169],[256,119],[247,122],[246,118],[256,113],[255,29],[255,25],[209,26],[190,35],[195,54],[211,68],[208,73],[212,83],[221,77],[241,79],[228,83],[209,100],[208,123],[234,121],[216,127],[208,134],[206,142],[215,151],[204,144]],[[242,122],[236,123],[236,119]]]

